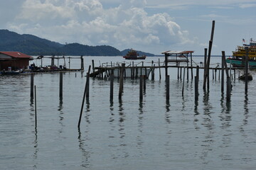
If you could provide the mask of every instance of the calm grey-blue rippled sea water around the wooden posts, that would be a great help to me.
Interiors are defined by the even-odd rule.
[[[164,61],[148,57],[144,62],[159,58]],[[122,57],[85,57],[86,69],[91,60],[95,66],[124,61]],[[202,57],[194,60],[203,62]],[[218,62],[220,57],[212,58],[213,66]],[[80,60],[71,60],[71,66],[79,68]],[[165,81],[159,80],[158,69],[155,74],[155,81],[146,81],[142,103],[138,80],[124,81],[119,101],[116,79],[111,103],[110,81],[90,79],[90,101],[85,103],[80,130],[85,74],[63,74],[63,98],[58,97],[58,73],[35,75],[37,128],[30,75],[1,76],[0,169],[256,168],[255,80],[245,95],[244,82],[233,79],[227,103],[218,72],[217,79],[210,79],[209,93],[202,91],[200,72],[200,96],[195,101],[190,75],[182,96],[182,81],[177,79],[177,70],[170,68],[170,100],[166,102]]]

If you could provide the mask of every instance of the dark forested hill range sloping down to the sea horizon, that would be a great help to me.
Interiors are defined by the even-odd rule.
[[[9,30],[0,30],[0,51],[18,51],[27,55],[84,55],[84,56],[121,56],[129,49],[120,52],[109,45],[89,46],[79,43],[60,44],[35,35],[18,34]],[[139,55],[154,56],[138,51]]]

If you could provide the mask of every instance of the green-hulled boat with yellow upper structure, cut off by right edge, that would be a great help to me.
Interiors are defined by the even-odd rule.
[[[243,39],[245,42],[245,40]],[[233,65],[233,67],[245,67],[245,56],[246,50],[245,47],[248,47],[248,64],[250,68],[256,68],[256,41],[250,39],[250,44],[243,46],[238,46],[238,48],[233,51],[233,57],[229,57],[226,62]]]

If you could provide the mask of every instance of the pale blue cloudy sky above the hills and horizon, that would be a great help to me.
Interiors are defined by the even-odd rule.
[[[111,45],[160,55],[212,55],[256,40],[256,0],[0,0],[0,29],[51,41]]]

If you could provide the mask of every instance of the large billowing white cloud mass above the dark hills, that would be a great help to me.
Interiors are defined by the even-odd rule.
[[[135,0],[108,9],[98,0],[26,0],[9,28],[57,42],[107,44],[119,50],[193,42],[169,14],[149,16],[144,6],[146,1]]]

